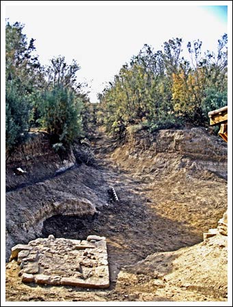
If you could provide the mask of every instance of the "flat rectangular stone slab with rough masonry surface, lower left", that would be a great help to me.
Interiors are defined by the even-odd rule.
[[[23,282],[109,287],[109,267],[105,237],[91,235],[86,240],[38,238],[28,245],[12,248],[10,261],[17,258]]]

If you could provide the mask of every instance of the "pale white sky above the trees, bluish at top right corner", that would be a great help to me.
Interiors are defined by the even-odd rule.
[[[77,77],[90,85],[90,101],[95,103],[96,94],[143,44],[159,50],[163,42],[178,37],[186,49],[189,40],[199,38],[203,51],[215,51],[217,40],[228,32],[231,1],[2,2],[10,23],[25,24],[27,38],[36,39],[41,64],[57,55],[64,55],[68,64],[77,60]],[[202,5],[206,3],[210,5]]]

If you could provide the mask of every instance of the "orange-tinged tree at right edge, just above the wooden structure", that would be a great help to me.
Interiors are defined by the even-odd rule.
[[[195,124],[208,124],[208,111],[227,104],[227,42],[224,34],[218,41],[217,55],[210,51],[202,55],[200,40],[187,44],[191,63],[183,62],[173,74],[172,96],[179,116]]]

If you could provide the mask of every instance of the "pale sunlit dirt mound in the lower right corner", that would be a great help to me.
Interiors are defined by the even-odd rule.
[[[190,248],[148,256],[120,271],[116,290],[141,301],[225,301],[228,298],[227,237],[217,235]]]

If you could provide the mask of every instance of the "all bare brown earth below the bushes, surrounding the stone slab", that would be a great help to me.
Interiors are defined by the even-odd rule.
[[[11,261],[6,300],[227,301],[227,236],[203,241],[227,209],[227,145],[202,128],[90,141],[61,161],[46,133],[31,133],[8,159],[6,260],[38,237],[106,237],[109,289],[24,284]],[[89,165],[80,152],[92,150]]]

